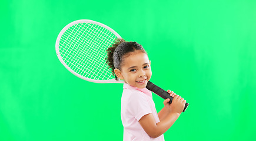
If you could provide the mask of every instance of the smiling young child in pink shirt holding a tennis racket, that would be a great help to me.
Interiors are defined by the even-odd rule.
[[[164,100],[164,108],[157,113],[152,92],[145,86],[151,78],[148,55],[137,42],[119,40],[107,49],[107,63],[116,79],[124,80],[121,99],[121,119],[124,141],[164,140],[169,127],[178,119],[186,100],[168,90],[174,99]]]

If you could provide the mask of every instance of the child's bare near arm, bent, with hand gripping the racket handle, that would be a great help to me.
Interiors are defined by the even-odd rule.
[[[141,117],[141,119],[139,119],[139,124],[149,136],[153,138],[161,136],[178,119],[179,115],[184,109],[185,103],[186,100],[181,98],[181,96],[175,95],[171,105],[169,105],[171,112],[169,112],[164,119],[160,120],[158,123],[155,123],[154,116],[152,113],[149,113],[148,115],[144,115]]]

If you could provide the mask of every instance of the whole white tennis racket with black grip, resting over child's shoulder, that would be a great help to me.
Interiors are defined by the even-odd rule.
[[[107,25],[88,19],[71,22],[58,35],[55,49],[62,65],[81,79],[95,83],[124,83],[115,80],[106,63],[107,48],[121,36]],[[169,93],[151,82],[147,89],[164,99],[172,97]],[[185,104],[183,112],[188,107]]]

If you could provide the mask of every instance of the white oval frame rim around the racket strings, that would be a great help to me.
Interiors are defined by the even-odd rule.
[[[101,24],[100,22],[96,22],[96,21],[92,21],[89,19],[79,19],[77,21],[71,22],[68,25],[66,25],[61,32],[59,32],[58,38],[56,39],[56,43],[55,43],[55,49],[56,49],[56,54],[59,58],[59,61],[61,61],[62,65],[65,66],[65,68],[67,68],[69,70],[69,72],[73,73],[75,76],[77,76],[78,78],[87,80],[89,82],[94,82],[94,83],[125,83],[123,80],[115,80],[115,79],[109,79],[109,80],[95,80],[95,79],[90,79],[90,78],[86,78],[82,75],[79,75],[77,72],[75,72],[74,70],[72,70],[71,68],[69,68],[69,66],[64,62],[64,60],[62,59],[60,53],[59,53],[59,41],[61,39],[61,36],[64,34],[65,31],[67,31],[68,28],[70,28],[73,25],[79,24],[79,23],[91,23],[91,24],[95,24],[95,25],[99,25],[102,26],[103,28],[108,29],[110,32],[114,33],[115,36],[117,36],[118,39],[122,39],[121,36],[115,32],[112,28],[109,28],[107,25]]]

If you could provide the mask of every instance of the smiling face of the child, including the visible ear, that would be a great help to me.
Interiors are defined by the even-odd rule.
[[[131,86],[145,88],[152,72],[148,55],[144,52],[132,52],[124,58],[121,70],[115,69],[115,74]]]

